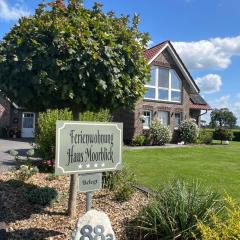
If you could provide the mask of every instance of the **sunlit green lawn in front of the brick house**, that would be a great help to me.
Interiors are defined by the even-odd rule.
[[[240,201],[240,143],[125,150],[125,164],[139,184],[157,188],[170,179],[198,180]]]

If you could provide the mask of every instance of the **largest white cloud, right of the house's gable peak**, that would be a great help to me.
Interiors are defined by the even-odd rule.
[[[240,35],[195,42],[173,42],[173,45],[190,69],[225,69],[231,64],[233,56],[240,55]]]

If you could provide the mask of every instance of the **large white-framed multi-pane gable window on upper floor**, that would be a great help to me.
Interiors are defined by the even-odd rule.
[[[151,81],[146,88],[145,99],[181,102],[182,83],[173,69],[152,67]]]

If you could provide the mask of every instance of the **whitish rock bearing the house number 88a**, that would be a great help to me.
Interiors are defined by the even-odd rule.
[[[110,220],[104,212],[90,210],[78,219],[72,240],[116,240]]]

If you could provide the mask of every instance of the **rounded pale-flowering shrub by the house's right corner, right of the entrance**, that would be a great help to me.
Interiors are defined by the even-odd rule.
[[[197,141],[199,128],[192,120],[185,120],[178,128],[178,142],[195,143]]]

